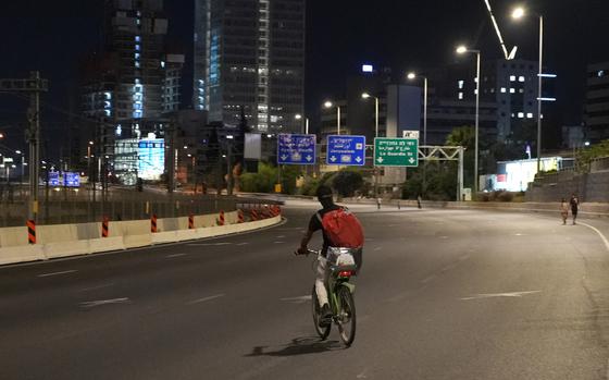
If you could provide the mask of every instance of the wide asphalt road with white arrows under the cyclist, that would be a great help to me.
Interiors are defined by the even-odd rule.
[[[0,268],[0,379],[607,378],[607,221],[353,207],[366,246],[346,350],[315,336],[311,258],[291,255],[313,207],[250,234]]]

